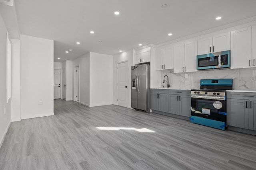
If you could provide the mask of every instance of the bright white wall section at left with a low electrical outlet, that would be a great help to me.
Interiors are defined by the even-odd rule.
[[[20,35],[21,119],[54,115],[53,84],[53,40]]]

